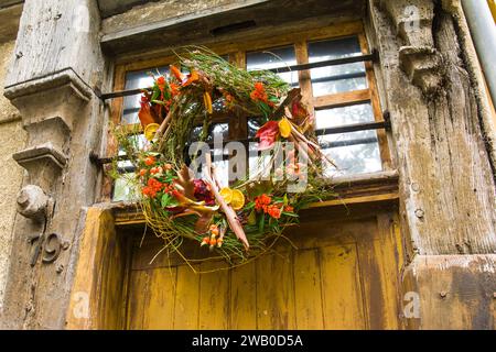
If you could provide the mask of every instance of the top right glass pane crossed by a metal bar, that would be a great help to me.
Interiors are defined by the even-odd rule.
[[[362,50],[356,36],[309,43],[310,63],[358,55]],[[367,88],[364,63],[319,67],[310,72],[315,97]]]

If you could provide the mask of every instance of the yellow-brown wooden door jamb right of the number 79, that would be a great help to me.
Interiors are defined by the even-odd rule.
[[[66,328],[123,329],[129,245],[117,235],[111,211],[89,208],[85,223]]]

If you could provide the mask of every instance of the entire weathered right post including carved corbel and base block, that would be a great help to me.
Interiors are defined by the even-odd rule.
[[[369,1],[411,254],[399,312],[408,328],[494,328],[496,205],[486,143],[494,131],[481,123],[483,92],[462,45],[459,7],[455,0]]]

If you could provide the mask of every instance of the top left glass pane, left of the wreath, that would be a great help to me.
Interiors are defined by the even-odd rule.
[[[126,86],[125,89],[137,89],[147,88],[153,85],[153,78],[150,74],[155,77],[165,75],[169,73],[169,67],[149,68],[137,72],[129,72],[126,74]],[[140,110],[140,99],[141,95],[134,95],[123,98],[123,111],[122,111],[122,123],[139,123],[138,111]]]

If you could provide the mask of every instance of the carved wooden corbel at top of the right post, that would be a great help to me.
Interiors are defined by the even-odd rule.
[[[379,0],[402,40],[398,56],[408,79],[427,96],[442,82],[442,57],[434,47],[432,0]]]

